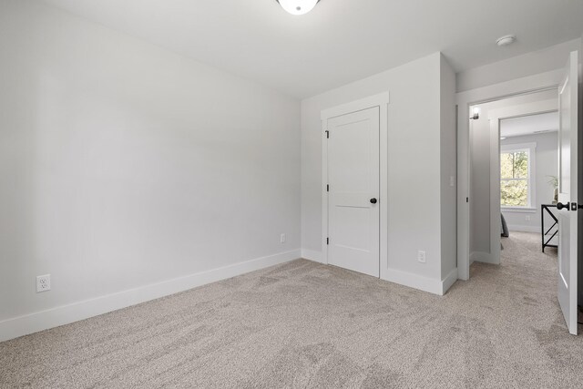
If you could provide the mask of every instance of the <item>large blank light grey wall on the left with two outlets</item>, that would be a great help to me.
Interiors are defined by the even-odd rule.
[[[299,256],[299,101],[27,0],[0,63],[0,322]]]

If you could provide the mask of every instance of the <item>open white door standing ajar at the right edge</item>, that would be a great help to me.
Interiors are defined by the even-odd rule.
[[[569,333],[577,334],[578,53],[568,58],[559,86],[558,302]]]

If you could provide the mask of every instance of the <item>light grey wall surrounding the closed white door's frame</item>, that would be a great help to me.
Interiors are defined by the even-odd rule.
[[[302,100],[302,252],[322,259],[322,109],[390,91],[388,107],[388,267],[441,281],[441,61],[436,53]],[[445,84],[453,84],[447,73]],[[451,101],[454,101],[453,86]],[[449,101],[449,100],[448,100]],[[455,112],[455,107],[443,107]],[[445,119],[445,122],[449,119]],[[451,123],[450,123],[451,124]],[[452,131],[455,129],[451,129]],[[444,138],[449,142],[449,136]],[[445,143],[445,142],[444,142]],[[445,149],[445,144],[443,145]],[[448,146],[449,147],[449,146]],[[455,148],[455,146],[451,146]],[[447,166],[451,161],[447,161]],[[455,169],[454,169],[455,171]],[[454,174],[454,173],[452,173]],[[455,196],[455,188],[448,189]],[[455,219],[454,219],[455,220]],[[451,223],[451,221],[449,221]],[[452,233],[454,233],[452,231]],[[452,244],[452,239],[446,240]],[[455,245],[455,243],[453,243]],[[426,263],[417,251],[426,251]],[[448,248],[444,252],[455,252]],[[382,262],[384,260],[382,259]],[[455,261],[450,259],[451,263]]]

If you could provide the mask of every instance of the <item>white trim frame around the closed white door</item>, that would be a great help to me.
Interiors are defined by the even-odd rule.
[[[389,92],[380,93],[370,97],[345,103],[336,107],[323,109],[320,115],[322,120],[322,260],[328,264],[328,142],[326,131],[328,119],[336,118],[364,109],[379,107],[379,274],[386,278],[388,271],[388,106],[390,103]]]

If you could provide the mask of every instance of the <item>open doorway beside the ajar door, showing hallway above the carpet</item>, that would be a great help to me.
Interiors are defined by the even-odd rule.
[[[556,256],[557,90],[470,109],[470,264],[499,264],[517,237]]]

